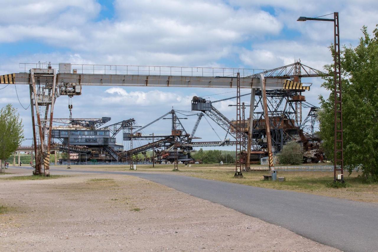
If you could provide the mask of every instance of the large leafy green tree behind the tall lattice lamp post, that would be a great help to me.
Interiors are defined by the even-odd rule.
[[[356,47],[341,51],[344,166],[360,168],[367,179],[378,181],[378,29],[370,38],[366,26]],[[333,47],[332,47],[333,48]],[[328,99],[319,96],[320,135],[328,158],[333,160],[334,79],[333,64],[325,65],[330,76],[322,84],[331,90]]]

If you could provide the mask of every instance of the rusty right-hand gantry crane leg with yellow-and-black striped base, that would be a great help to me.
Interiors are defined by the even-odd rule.
[[[269,116],[268,116],[268,104],[266,101],[266,89],[265,89],[265,79],[262,74],[258,75],[260,81],[261,81],[261,93],[262,93],[262,102],[263,102],[263,110],[264,110],[264,119],[265,119],[265,132],[266,132],[266,143],[268,147],[268,165],[269,165],[269,171],[273,172],[275,176],[272,174],[272,179],[276,177],[276,171],[274,170],[274,164],[273,164],[273,152],[272,152],[272,138],[270,135],[270,122],[269,122]]]

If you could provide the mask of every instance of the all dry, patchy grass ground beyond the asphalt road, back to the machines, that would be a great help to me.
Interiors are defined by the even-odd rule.
[[[64,166],[53,166],[59,169]],[[129,171],[129,165],[74,165],[79,170],[102,170],[102,171]],[[137,171],[140,172],[169,172],[172,173],[173,165],[137,165]],[[252,169],[260,169],[264,166],[252,166]],[[308,165],[309,169],[316,168],[315,164]],[[279,177],[285,177],[285,182],[264,181],[263,175],[267,171],[248,171],[243,173],[243,179],[235,179],[235,166],[217,165],[217,164],[198,164],[178,166],[179,171],[174,172],[177,175],[199,177],[203,179],[214,179],[225,182],[251,185],[263,188],[272,188],[279,190],[291,190],[303,193],[311,193],[322,196],[349,199],[354,201],[370,202],[378,204],[378,184],[367,183],[361,176],[361,173],[353,171],[348,176],[345,175],[347,187],[329,188],[327,185],[332,182],[333,171],[278,171]],[[265,166],[266,168],[266,166]],[[54,169],[54,168],[53,168]]]

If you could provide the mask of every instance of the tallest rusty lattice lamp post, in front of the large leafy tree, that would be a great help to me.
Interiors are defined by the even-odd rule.
[[[327,16],[327,15],[325,15]],[[344,182],[344,156],[342,143],[342,107],[341,107],[341,63],[340,63],[340,33],[339,33],[339,12],[333,13],[333,19],[299,17],[297,21],[330,21],[334,24],[334,93],[335,93],[335,128],[334,128],[334,162],[333,162],[333,181]],[[341,167],[337,168],[337,163]],[[340,171],[341,174],[336,174]]]

